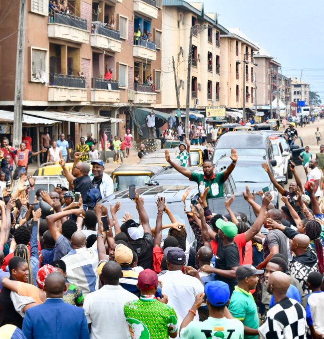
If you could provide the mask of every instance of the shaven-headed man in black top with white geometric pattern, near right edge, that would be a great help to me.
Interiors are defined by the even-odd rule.
[[[303,305],[307,305],[306,298],[311,293],[307,278],[310,273],[318,271],[318,258],[313,249],[309,247],[310,243],[311,240],[306,234],[297,234],[291,245],[295,257],[290,263],[289,272],[301,285]]]

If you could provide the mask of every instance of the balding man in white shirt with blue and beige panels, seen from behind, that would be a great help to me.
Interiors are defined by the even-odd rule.
[[[97,236],[102,236],[97,234]],[[87,296],[98,289],[98,250],[97,242],[86,248],[86,237],[81,231],[76,231],[71,237],[72,250],[62,260],[66,264],[66,279],[76,284]]]

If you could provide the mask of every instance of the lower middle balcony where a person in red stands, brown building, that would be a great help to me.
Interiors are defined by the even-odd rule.
[[[118,81],[101,78],[91,79],[91,101],[101,103],[118,103],[119,83]]]

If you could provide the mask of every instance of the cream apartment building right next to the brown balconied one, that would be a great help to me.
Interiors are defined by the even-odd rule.
[[[164,0],[162,31],[161,107],[167,112],[177,109],[176,91],[180,108],[186,107],[188,58],[191,58],[190,108],[205,111],[207,106],[219,106],[223,67],[220,36],[228,31],[218,24],[217,15],[205,13],[203,2]]]

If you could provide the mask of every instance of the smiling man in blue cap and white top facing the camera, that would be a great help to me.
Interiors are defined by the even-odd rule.
[[[94,188],[100,190],[101,198],[104,198],[114,192],[114,183],[112,178],[104,172],[105,164],[102,160],[91,162],[92,174],[90,175]]]

